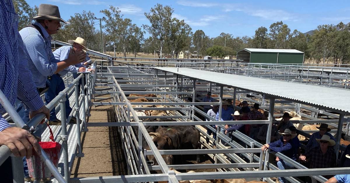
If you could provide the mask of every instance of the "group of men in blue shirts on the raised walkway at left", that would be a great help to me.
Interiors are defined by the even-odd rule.
[[[38,15],[30,18],[35,23],[27,25],[18,31],[18,15],[15,13],[13,2],[0,0],[0,89],[14,106],[25,123],[38,113],[44,113],[50,125],[59,125],[55,108],[49,111],[45,107],[40,95],[45,93],[45,102],[48,104],[64,88],[62,76],[73,73],[88,73],[91,63],[86,51],[86,41],[77,37],[68,40],[72,46],[62,46],[56,51],[51,50],[51,35],[61,28],[64,21],[59,9],[55,5],[41,4]],[[80,81],[81,82],[81,81]],[[66,116],[71,112],[69,100],[66,96]],[[0,105],[0,113],[6,111]],[[32,147],[37,154],[41,154],[38,139],[47,124],[39,124],[34,134],[27,130],[11,127],[0,115],[0,146],[6,145],[15,156],[30,158]],[[72,117],[71,123],[76,123]],[[25,166],[25,177],[28,177]],[[10,158],[0,166],[0,175],[3,182],[12,182]]]

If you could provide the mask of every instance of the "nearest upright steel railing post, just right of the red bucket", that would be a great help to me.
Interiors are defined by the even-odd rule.
[[[65,95],[64,92],[59,92],[63,94],[63,98],[61,101],[59,101],[60,107],[61,107],[61,124],[62,124],[62,153],[63,153],[63,167],[64,167],[64,179],[68,183],[69,182],[69,168],[68,168],[68,135],[67,135],[67,124],[66,124],[66,115],[65,115]]]

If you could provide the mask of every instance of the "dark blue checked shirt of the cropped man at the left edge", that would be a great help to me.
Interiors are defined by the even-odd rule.
[[[38,110],[44,104],[27,67],[28,53],[18,33],[18,15],[11,0],[0,0],[0,17],[0,89],[12,105],[19,98],[30,110]],[[1,116],[5,112],[0,105],[0,131],[10,127]]]

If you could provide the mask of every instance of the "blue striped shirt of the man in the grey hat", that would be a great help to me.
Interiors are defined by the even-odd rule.
[[[51,51],[52,37],[47,33],[43,26],[36,22],[44,35],[33,27],[25,27],[20,30],[23,43],[29,53],[28,68],[33,74],[36,87],[45,87],[47,76],[54,75],[57,70],[57,61]]]

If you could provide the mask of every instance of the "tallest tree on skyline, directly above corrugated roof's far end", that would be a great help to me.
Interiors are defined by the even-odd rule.
[[[151,8],[149,13],[145,12],[146,18],[151,25],[142,25],[154,39],[159,40],[158,51],[162,57],[162,51],[165,41],[168,39],[170,32],[169,25],[172,22],[172,14],[174,9],[170,6],[163,6],[159,3]]]

